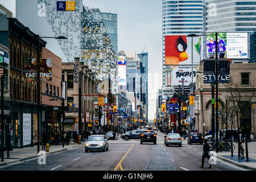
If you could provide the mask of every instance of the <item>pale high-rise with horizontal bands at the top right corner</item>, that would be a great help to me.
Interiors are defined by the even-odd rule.
[[[256,31],[255,0],[205,0],[207,32]]]

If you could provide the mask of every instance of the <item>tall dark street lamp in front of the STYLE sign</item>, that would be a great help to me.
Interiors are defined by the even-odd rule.
[[[213,34],[189,34],[188,37],[194,36],[206,36],[206,35],[213,35]],[[218,33],[215,32],[215,85],[216,85],[216,143],[218,143]],[[212,85],[212,93],[214,94],[214,85]],[[214,109],[212,109],[214,111]],[[212,122],[214,122],[214,112],[212,113]],[[212,123],[213,125],[213,123]],[[212,129],[213,130],[213,129]],[[213,136],[214,136],[213,132]],[[216,152],[218,152],[218,145],[216,144]]]

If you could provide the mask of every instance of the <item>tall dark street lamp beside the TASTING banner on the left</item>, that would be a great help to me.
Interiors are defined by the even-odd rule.
[[[65,36],[57,36],[57,37],[49,37],[49,36],[39,36],[36,35],[37,41],[38,41],[38,58],[37,58],[37,83],[38,83],[38,152],[40,151],[40,38],[52,38],[52,39],[67,39]]]

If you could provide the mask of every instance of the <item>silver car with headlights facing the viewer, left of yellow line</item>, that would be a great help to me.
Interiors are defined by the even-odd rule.
[[[108,151],[109,142],[104,135],[90,135],[88,140],[85,140],[85,152],[88,151]]]

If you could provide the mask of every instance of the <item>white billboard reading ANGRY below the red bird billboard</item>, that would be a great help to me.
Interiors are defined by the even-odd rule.
[[[196,81],[196,65],[193,65],[193,81]],[[172,69],[172,85],[188,86],[192,82],[192,66],[176,66]]]

